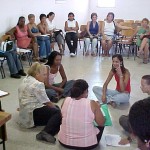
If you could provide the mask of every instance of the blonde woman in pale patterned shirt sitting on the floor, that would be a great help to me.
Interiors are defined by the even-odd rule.
[[[36,62],[28,70],[28,76],[23,79],[18,89],[19,123],[25,128],[46,125],[36,135],[36,139],[55,143],[54,135],[60,129],[61,112],[46,95],[44,86],[46,72],[46,66]]]

